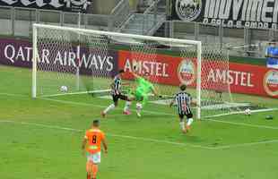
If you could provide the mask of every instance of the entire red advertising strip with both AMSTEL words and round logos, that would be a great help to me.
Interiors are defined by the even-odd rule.
[[[126,71],[124,78],[134,66],[139,74],[148,72],[151,81],[178,86],[186,83],[195,86],[196,60],[169,55],[140,55],[119,51],[118,68]],[[244,93],[278,98],[278,70],[250,64],[228,64],[217,61],[202,62],[202,87],[209,90],[225,90],[230,84],[233,93]],[[228,70],[229,69],[229,70]],[[223,89],[222,89],[223,88]]]

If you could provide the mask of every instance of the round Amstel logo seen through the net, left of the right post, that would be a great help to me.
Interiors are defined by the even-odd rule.
[[[190,85],[195,81],[195,64],[189,58],[184,59],[178,65],[178,79],[181,83]]]

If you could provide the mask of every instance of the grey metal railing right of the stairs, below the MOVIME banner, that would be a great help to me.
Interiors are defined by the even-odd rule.
[[[265,57],[271,39],[278,41],[278,30],[224,28],[198,22],[164,21],[156,36],[200,40],[204,45],[219,44],[230,55]]]

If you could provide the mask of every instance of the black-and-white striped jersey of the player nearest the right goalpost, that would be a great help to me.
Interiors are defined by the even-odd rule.
[[[189,93],[184,91],[178,92],[174,100],[177,102],[178,114],[188,115],[191,113],[190,103],[192,98]]]

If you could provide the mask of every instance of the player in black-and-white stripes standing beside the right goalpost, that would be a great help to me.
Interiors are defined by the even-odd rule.
[[[169,107],[172,107],[175,102],[177,103],[180,128],[182,132],[187,133],[190,130],[190,125],[193,123],[193,114],[190,105],[196,103],[191,95],[187,93],[187,85],[182,84],[179,88],[180,91],[170,102]],[[187,124],[184,121],[185,115],[187,116]]]

